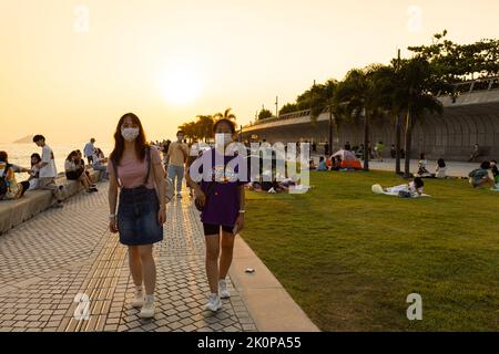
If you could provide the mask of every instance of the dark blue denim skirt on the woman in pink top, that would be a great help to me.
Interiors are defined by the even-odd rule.
[[[163,240],[157,222],[160,202],[155,189],[122,188],[118,207],[120,242],[126,246],[152,244]]]

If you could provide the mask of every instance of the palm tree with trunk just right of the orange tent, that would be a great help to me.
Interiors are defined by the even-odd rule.
[[[335,91],[335,106],[353,119],[364,117],[364,170],[369,170],[369,122],[379,115],[379,94],[376,72],[379,65],[350,70]]]

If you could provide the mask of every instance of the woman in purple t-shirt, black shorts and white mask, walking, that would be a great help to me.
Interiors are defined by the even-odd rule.
[[[222,308],[221,298],[230,296],[225,278],[232,263],[234,236],[244,227],[244,185],[247,177],[242,176],[246,169],[240,168],[245,164],[244,158],[227,152],[236,134],[235,124],[220,119],[214,124],[213,133],[217,142],[215,148],[204,152],[190,166],[186,179],[195,191],[197,206],[202,208],[211,291],[206,309],[215,312]],[[196,174],[203,176],[200,184],[193,179]]]

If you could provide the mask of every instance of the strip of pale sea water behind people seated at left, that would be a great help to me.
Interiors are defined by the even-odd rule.
[[[99,143],[99,142],[98,142]],[[55,157],[55,166],[58,173],[64,171],[64,160],[72,150],[83,152],[83,147],[86,143],[75,144],[49,144],[53,150]],[[112,143],[95,144],[95,147],[100,147],[105,156],[109,156],[113,149]],[[31,166],[31,154],[38,153],[41,155],[41,147],[38,147],[34,143],[31,144],[0,144],[0,150],[7,152],[9,155],[9,163],[29,168]],[[28,174],[17,174],[18,181],[28,179]]]

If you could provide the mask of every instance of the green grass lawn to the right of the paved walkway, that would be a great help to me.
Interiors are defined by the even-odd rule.
[[[243,238],[323,331],[498,331],[499,192],[391,173],[312,173],[304,195],[247,192]],[[422,321],[406,298],[422,296]]]

